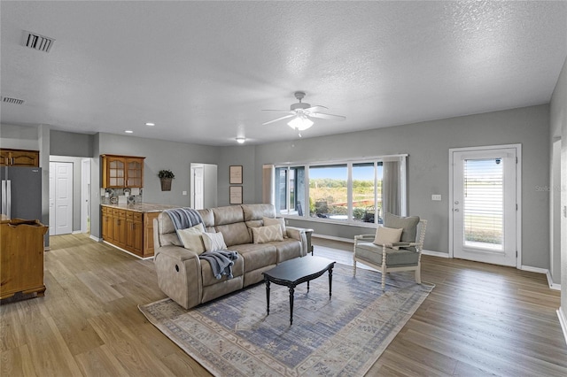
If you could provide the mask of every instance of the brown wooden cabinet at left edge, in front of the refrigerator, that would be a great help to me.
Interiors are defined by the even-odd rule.
[[[0,299],[22,294],[43,296],[43,235],[37,220],[5,219],[0,224]]]

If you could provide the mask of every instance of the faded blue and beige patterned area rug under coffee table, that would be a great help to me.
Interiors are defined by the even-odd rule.
[[[335,265],[332,298],[327,273],[295,289],[293,325],[286,287],[264,283],[189,311],[169,298],[139,309],[191,358],[217,376],[354,376],[368,372],[433,285],[413,273],[380,273]]]

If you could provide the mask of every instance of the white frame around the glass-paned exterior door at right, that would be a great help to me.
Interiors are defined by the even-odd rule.
[[[453,216],[453,153],[454,152],[469,152],[477,150],[501,150],[506,148],[515,148],[517,156],[516,165],[516,197],[517,197],[517,211],[516,211],[516,268],[522,268],[522,144],[504,144],[504,145],[488,145],[480,147],[467,147],[467,148],[451,148],[449,149],[449,258],[453,258],[453,234],[454,234],[454,216]]]

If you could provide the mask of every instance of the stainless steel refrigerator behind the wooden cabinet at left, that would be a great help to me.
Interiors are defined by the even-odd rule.
[[[2,166],[1,212],[10,219],[42,220],[42,168]]]

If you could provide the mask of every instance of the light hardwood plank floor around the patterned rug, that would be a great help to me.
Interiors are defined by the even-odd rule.
[[[314,243],[352,265],[352,244]],[[46,295],[1,303],[1,376],[210,375],[138,311],[165,297],[152,260],[86,235],[50,247]],[[559,292],[544,275],[423,256],[422,277],[436,288],[368,375],[567,375]]]

